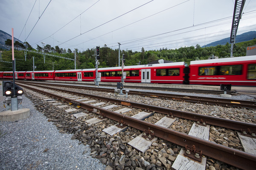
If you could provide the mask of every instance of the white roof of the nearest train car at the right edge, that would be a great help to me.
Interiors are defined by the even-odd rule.
[[[218,63],[218,62],[239,62],[239,61],[242,62],[242,61],[250,61],[250,60],[256,61],[256,56],[229,57],[229,58],[220,58],[220,59],[205,59],[205,60],[191,61],[190,65]]]

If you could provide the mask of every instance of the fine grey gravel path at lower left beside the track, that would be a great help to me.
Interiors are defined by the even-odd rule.
[[[0,96],[0,111],[4,99]],[[28,119],[0,121],[0,170],[105,170],[99,159],[90,156],[89,145],[59,133],[25,95],[22,105],[30,109]]]

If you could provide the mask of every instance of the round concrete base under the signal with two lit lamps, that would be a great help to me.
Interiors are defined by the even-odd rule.
[[[30,109],[23,108],[17,111],[0,112],[0,121],[16,121],[30,116]]]

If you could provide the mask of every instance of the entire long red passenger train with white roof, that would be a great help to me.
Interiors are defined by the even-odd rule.
[[[121,82],[122,67],[99,68],[102,82]],[[125,66],[125,82],[191,85],[256,86],[256,56],[232,57],[151,65]],[[58,71],[17,71],[15,79],[94,81],[95,69]],[[0,78],[12,79],[12,71],[0,72]]]

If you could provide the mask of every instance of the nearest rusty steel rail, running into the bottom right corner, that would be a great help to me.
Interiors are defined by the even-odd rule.
[[[67,97],[59,96],[56,94],[51,94],[46,91],[41,91],[36,88],[28,87],[26,88],[33,89],[35,91],[38,91],[43,94],[47,94],[49,96],[52,96],[57,99],[64,100],[65,102],[71,102],[72,99],[69,99]],[[58,89],[60,90],[60,89]],[[62,91],[62,90],[60,90]],[[165,127],[161,127],[158,125],[151,124],[149,122],[145,122],[139,119],[135,119],[129,116],[125,116],[120,113],[116,113],[113,111],[109,111],[103,108],[99,108],[96,106],[88,105],[83,102],[76,101],[80,104],[81,108],[87,109],[87,110],[93,110],[97,109],[100,113],[104,114],[107,118],[113,119],[115,121],[123,121],[126,123],[126,125],[130,127],[134,127],[138,130],[144,131],[144,130],[153,130],[154,134],[156,134],[157,137],[161,139],[165,139],[169,142],[178,144],[182,147],[185,147],[186,145],[192,146],[195,145],[197,150],[202,150],[203,155],[209,156],[213,159],[217,159],[220,161],[223,161],[227,164],[230,164],[232,166],[245,169],[245,170],[253,170],[256,165],[256,156],[252,155],[250,153],[245,153],[240,150],[236,150],[230,147],[225,147],[220,144],[216,144],[214,142],[209,142],[203,139],[199,139],[194,136],[186,135],[184,133],[177,132],[175,130],[171,130]]]

